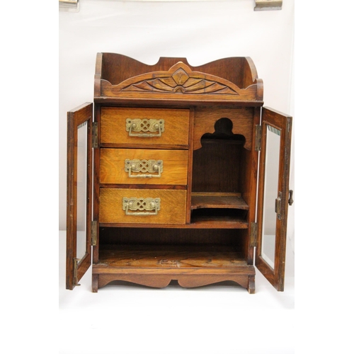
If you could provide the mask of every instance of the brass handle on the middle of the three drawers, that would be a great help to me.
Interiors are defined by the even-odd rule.
[[[152,178],[161,177],[164,169],[164,161],[162,160],[130,160],[126,159],[124,164],[124,171],[129,173],[130,178]],[[133,175],[132,173],[143,172],[143,174]],[[149,172],[150,174],[146,174]],[[157,174],[152,174],[157,173]]]

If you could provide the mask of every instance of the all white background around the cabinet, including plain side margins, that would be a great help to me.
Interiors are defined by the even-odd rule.
[[[354,2],[297,1],[296,114],[290,91],[294,2],[255,13],[253,0],[81,0],[79,13],[58,16],[56,1],[3,1],[1,319],[7,353],[35,348],[47,354],[57,352],[58,343],[62,354],[287,354],[295,344],[307,354],[353,347],[343,316],[353,307]],[[265,103],[295,116],[296,316],[293,278],[285,278],[292,286],[280,293],[257,275],[254,296],[224,286],[108,286],[93,294],[88,272],[81,287],[64,290],[65,232],[59,232],[58,321],[55,230],[57,207],[59,229],[65,227],[66,112],[92,101],[96,52],[108,50],[147,63],[163,55],[185,56],[191,64],[249,55],[264,80]],[[59,165],[53,158],[58,147]],[[290,183],[293,188],[293,175]]]

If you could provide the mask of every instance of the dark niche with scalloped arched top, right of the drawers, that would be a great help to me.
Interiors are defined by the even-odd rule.
[[[231,120],[222,118],[215,132],[205,133],[200,142],[202,147],[193,152],[191,222],[246,221],[245,137],[233,134]]]

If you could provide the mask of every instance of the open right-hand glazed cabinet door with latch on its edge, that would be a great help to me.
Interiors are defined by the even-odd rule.
[[[292,118],[262,109],[256,267],[284,290]]]

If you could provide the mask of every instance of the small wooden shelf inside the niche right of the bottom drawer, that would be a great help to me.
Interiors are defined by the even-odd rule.
[[[202,208],[249,210],[241,193],[192,193],[191,210]]]

